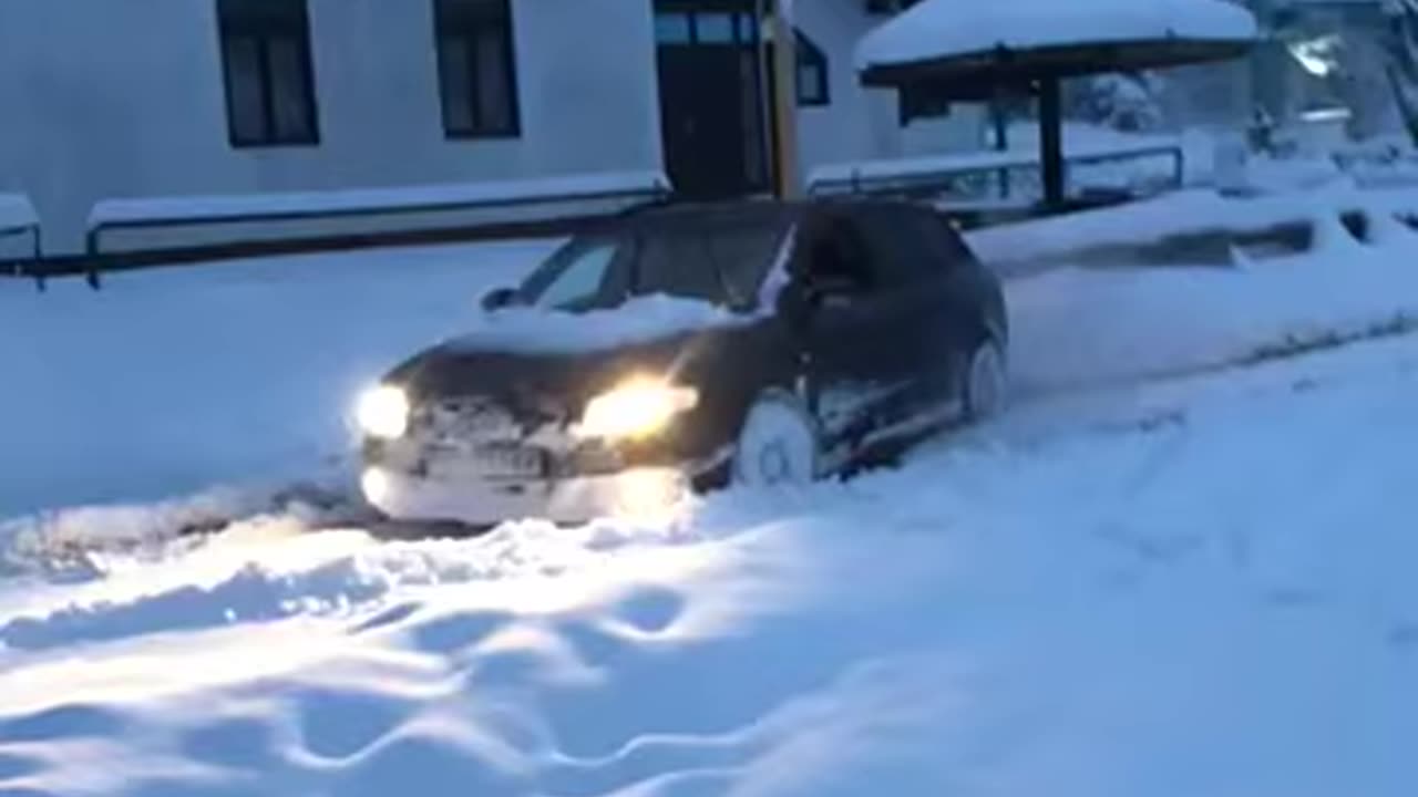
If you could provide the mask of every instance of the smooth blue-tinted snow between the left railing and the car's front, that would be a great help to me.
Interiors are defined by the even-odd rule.
[[[0,281],[0,518],[339,476],[353,396],[556,245],[115,274],[101,294]]]

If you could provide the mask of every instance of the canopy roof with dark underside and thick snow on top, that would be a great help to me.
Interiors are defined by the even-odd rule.
[[[868,85],[1001,82],[1147,69],[1241,55],[1255,17],[1225,0],[926,0],[868,34]]]

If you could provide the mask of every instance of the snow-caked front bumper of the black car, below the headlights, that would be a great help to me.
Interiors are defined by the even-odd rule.
[[[393,520],[495,526],[522,519],[587,523],[665,516],[689,491],[678,468],[634,468],[556,481],[447,479],[372,465],[364,499]]]

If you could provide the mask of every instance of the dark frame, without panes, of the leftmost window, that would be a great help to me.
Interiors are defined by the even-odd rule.
[[[294,6],[298,11],[291,18],[272,17],[259,6],[242,9],[242,0],[214,0],[217,55],[221,60],[221,84],[227,112],[227,143],[233,149],[315,147],[320,145],[320,101],[315,77],[311,6],[309,0],[286,1],[298,3]],[[258,89],[261,92],[261,133],[257,136],[242,135],[242,128],[237,123],[241,111],[237,108],[234,91],[235,69],[227,54],[234,40],[248,40],[257,44]],[[299,69],[296,85],[301,91],[305,115],[309,119],[309,129],[303,133],[286,135],[277,123],[275,75],[271,68],[271,43],[274,40],[289,40],[296,45],[296,68]]]

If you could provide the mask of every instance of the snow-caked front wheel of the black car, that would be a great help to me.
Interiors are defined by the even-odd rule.
[[[822,434],[813,413],[786,391],[770,390],[749,408],[733,455],[735,484],[803,486],[822,476]]]

